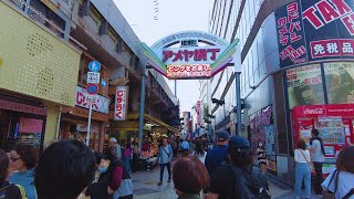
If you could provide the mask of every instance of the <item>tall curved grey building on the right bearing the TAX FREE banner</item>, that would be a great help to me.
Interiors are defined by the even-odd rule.
[[[353,143],[352,0],[218,0],[209,32],[228,41],[240,39],[242,135],[252,148],[262,142],[269,171],[293,181],[293,149],[309,140],[312,128],[325,139],[324,172],[343,145]],[[216,132],[237,133],[233,69],[210,81],[209,104]],[[337,126],[335,128],[334,126]],[[330,133],[334,130],[334,133]]]

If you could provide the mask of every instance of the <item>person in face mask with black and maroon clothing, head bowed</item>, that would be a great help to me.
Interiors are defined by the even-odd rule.
[[[91,199],[132,199],[133,182],[121,159],[111,154],[94,153],[100,178],[88,185],[86,196]]]

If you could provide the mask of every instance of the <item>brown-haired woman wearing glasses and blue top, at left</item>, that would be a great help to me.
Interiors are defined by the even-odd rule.
[[[33,181],[38,159],[39,151],[33,145],[18,144],[10,151],[10,166],[14,174],[9,177],[9,181],[22,186],[28,199],[37,199]]]

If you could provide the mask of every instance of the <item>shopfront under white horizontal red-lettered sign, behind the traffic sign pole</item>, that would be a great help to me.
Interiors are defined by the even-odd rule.
[[[63,107],[59,139],[77,139],[85,142],[87,135],[88,104],[85,103],[86,90],[76,87],[76,107]],[[93,105],[88,147],[102,151],[108,139],[110,100],[98,95]]]

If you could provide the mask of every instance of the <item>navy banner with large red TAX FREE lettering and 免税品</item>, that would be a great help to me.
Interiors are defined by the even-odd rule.
[[[354,0],[298,0],[275,19],[281,67],[354,57]]]

